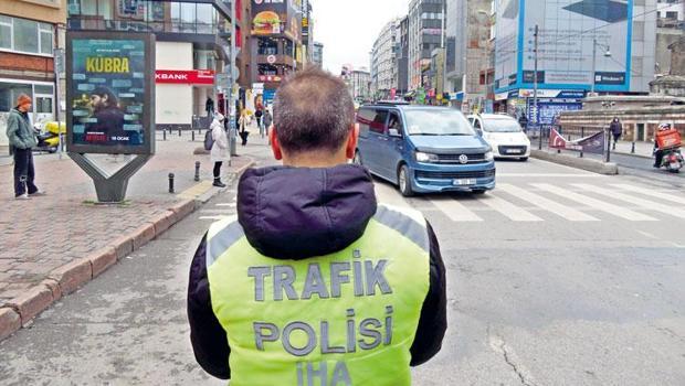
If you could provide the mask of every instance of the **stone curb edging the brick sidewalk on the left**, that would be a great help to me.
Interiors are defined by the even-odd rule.
[[[232,182],[245,170],[255,165],[254,160],[230,174]],[[211,189],[196,199],[185,199],[175,203],[162,214],[147,221],[133,233],[120,236],[108,246],[91,253],[64,266],[53,269],[48,278],[30,288],[23,294],[0,307],[0,341],[21,328],[31,325],[33,318],[52,303],[76,291],[88,281],[98,277],[118,260],[134,250],[159,237],[171,226],[186,218],[200,206],[225,189]]]

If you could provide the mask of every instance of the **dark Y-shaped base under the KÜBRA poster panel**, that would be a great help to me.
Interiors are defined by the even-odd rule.
[[[136,158],[116,173],[109,174],[96,165],[85,154],[70,152],[68,157],[93,179],[95,192],[97,193],[97,201],[103,204],[124,202],[124,200],[126,200],[128,180],[152,158],[152,156],[136,156]]]

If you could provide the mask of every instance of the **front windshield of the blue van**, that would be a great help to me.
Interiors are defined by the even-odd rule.
[[[475,136],[461,111],[453,109],[407,109],[407,130],[410,136]]]

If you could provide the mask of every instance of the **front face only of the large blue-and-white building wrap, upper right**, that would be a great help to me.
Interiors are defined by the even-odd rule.
[[[533,49],[537,24],[538,68],[545,73],[540,83],[590,85],[594,78],[597,85],[628,86],[632,30],[628,21],[632,7],[632,0],[526,2],[524,71],[531,74],[535,68]],[[592,74],[594,39],[597,72]]]

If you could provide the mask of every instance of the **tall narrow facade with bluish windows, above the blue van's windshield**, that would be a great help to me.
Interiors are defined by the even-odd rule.
[[[409,88],[424,88],[433,50],[442,44],[445,0],[411,0],[409,3]]]

